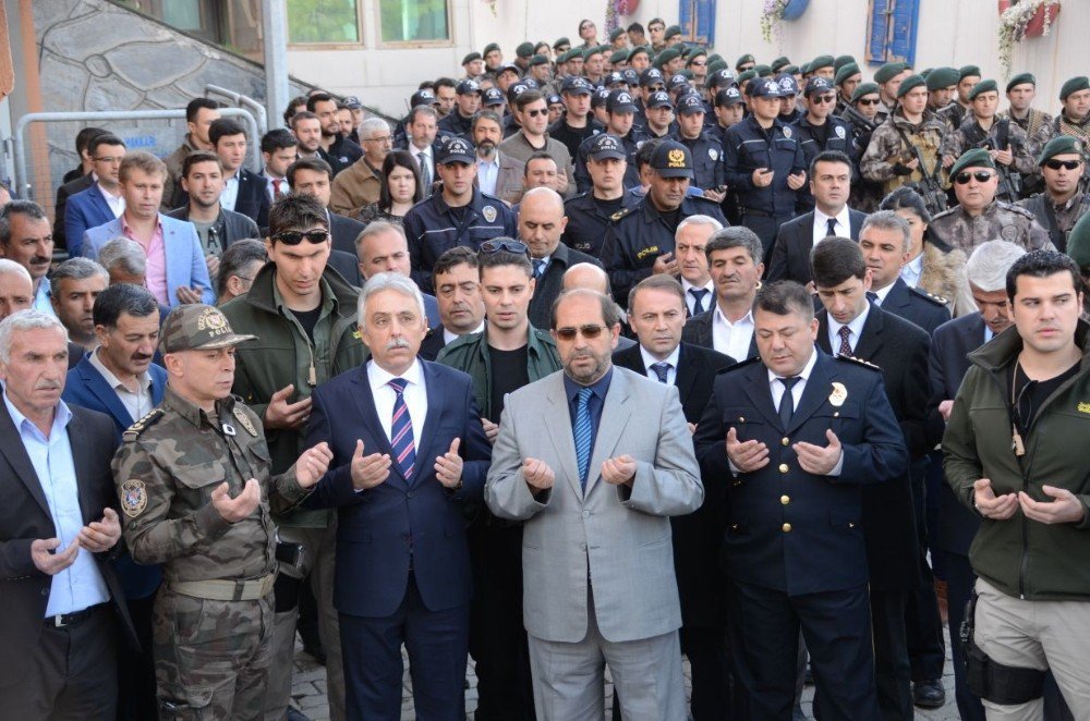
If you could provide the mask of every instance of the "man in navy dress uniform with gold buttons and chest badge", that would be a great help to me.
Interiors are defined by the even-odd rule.
[[[694,442],[728,481],[723,560],[735,682],[749,718],[791,718],[801,626],[824,719],[880,718],[860,486],[908,468],[882,375],[814,347],[806,289],[763,286],[760,356],[715,379]]]

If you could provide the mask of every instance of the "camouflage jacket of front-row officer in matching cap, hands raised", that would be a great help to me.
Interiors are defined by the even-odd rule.
[[[217,402],[216,423],[169,386],[162,403],[124,433],[113,456],[124,536],[133,560],[162,564],[168,581],[257,578],[276,570],[277,510],[310,491],[294,466],[271,478],[257,415],[234,396]],[[211,504],[227,481],[232,497],[250,478],[262,501],[250,517],[228,523]]]

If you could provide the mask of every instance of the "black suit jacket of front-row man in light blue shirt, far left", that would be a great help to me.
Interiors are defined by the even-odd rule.
[[[68,433],[72,460],[76,472],[80,510],[84,525],[100,521],[107,506],[121,514],[113,486],[110,461],[118,447],[117,431],[109,416],[77,406],[70,406],[72,419]],[[49,504],[41,490],[41,482],[34,472],[31,457],[23,447],[19,430],[12,421],[8,406],[0,403],[0,697],[3,688],[20,683],[33,668],[33,658],[49,602],[52,576],[48,576],[31,560],[31,543],[39,538],[55,538]],[[119,541],[119,545],[123,541]],[[113,607],[126,632],[135,644],[135,633],[124,602],[121,584],[109,563],[120,549],[96,553],[95,560],[109,589]],[[81,553],[85,551],[81,550]]]

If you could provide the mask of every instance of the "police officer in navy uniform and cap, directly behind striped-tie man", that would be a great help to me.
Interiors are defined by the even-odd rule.
[[[432,292],[432,265],[445,252],[458,245],[475,250],[485,241],[514,237],[518,232],[510,208],[474,185],[472,143],[446,138],[435,156],[435,170],[443,181],[439,192],[417,203],[404,218],[412,278],[425,293]]]

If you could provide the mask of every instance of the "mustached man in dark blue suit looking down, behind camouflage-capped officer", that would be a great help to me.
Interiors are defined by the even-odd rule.
[[[98,411],[121,435],[162,400],[167,371],[152,363],[159,342],[159,304],[141,285],[111,285],[95,298],[98,347],[68,372],[65,403]],[[158,713],[152,659],[152,604],[162,574],[136,565],[123,550],[113,561],[141,650],[118,647],[119,719],[153,719]]]

